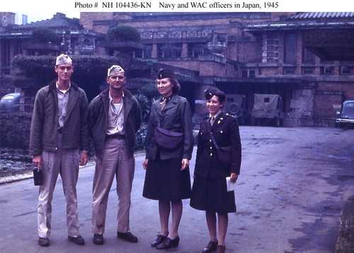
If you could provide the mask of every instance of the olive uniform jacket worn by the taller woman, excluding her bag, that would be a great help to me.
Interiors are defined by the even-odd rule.
[[[193,124],[188,100],[179,95],[172,95],[164,110],[161,110],[160,101],[152,104],[152,110],[147,124],[147,159],[156,160],[158,147],[154,143],[154,129],[162,127],[169,131],[183,133],[183,145],[173,151],[159,150],[161,160],[171,158],[192,158],[193,151]]]

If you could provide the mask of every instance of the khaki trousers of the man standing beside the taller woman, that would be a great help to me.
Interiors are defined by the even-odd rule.
[[[125,140],[107,139],[102,155],[96,158],[92,189],[92,233],[103,234],[105,232],[108,194],[114,177],[117,181],[118,194],[117,231],[125,233],[130,230],[130,193],[134,171],[135,158],[127,151]]]

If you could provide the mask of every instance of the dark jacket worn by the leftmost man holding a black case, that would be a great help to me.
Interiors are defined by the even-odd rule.
[[[72,83],[69,89],[67,116],[62,129],[62,148],[89,150],[89,130],[86,124],[87,102],[84,90]],[[58,96],[56,80],[38,90],[30,124],[30,154],[57,150]]]

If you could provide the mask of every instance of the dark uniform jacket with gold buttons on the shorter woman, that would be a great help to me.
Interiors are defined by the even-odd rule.
[[[214,134],[219,147],[232,146],[232,164],[227,167],[217,157],[217,149],[212,143],[210,132]],[[194,174],[199,177],[228,177],[232,172],[239,174],[241,168],[241,141],[237,119],[223,112],[215,119],[212,127],[210,120],[200,124],[198,150]]]

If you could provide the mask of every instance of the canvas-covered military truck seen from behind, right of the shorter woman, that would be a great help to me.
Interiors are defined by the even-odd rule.
[[[253,101],[253,109],[251,111],[252,125],[282,126],[284,112],[280,95],[254,94]]]

